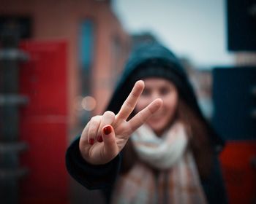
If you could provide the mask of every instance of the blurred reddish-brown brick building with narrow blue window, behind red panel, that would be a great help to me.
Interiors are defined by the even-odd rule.
[[[130,47],[129,35],[112,12],[111,2],[0,0],[0,4],[0,29],[16,26],[25,30],[20,35],[24,39],[67,41],[70,127],[75,127],[81,114],[101,113]],[[96,102],[89,113],[81,113],[78,107],[84,94]]]

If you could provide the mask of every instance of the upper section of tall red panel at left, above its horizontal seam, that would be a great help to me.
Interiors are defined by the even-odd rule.
[[[23,42],[30,60],[20,68],[21,92],[29,95],[23,114],[67,114],[67,49],[64,42]]]

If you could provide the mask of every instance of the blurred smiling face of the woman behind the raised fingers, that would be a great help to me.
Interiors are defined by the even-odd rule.
[[[145,88],[138,100],[135,111],[138,112],[144,109],[156,98],[162,98],[161,108],[146,122],[160,136],[175,117],[178,91],[175,85],[167,79],[152,77],[143,81],[145,82]]]

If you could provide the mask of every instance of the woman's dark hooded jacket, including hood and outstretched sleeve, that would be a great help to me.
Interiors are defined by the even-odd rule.
[[[190,108],[197,114],[197,117],[199,117],[206,125],[211,145],[216,151],[214,153],[214,164],[212,165],[213,168],[211,168],[211,173],[207,178],[201,179],[201,184],[206,193],[208,203],[227,203],[225,187],[222,181],[222,173],[218,160],[218,153],[223,148],[224,141],[217,136],[211,125],[209,125],[207,120],[203,117],[197,104],[195,93],[187,79],[187,74],[176,56],[173,55],[170,50],[167,50],[159,44],[142,44],[135,48],[128,60],[127,66],[124,68],[124,73],[118,82],[116,90],[114,91],[106,110],[113,111],[115,114],[118,113],[122,103],[124,103],[132,90],[135,83],[135,74],[147,63],[151,65],[160,64],[161,66],[172,69],[172,74],[169,74],[166,77],[174,82],[179,96],[189,104]],[[152,76],[154,76],[154,73],[152,73]],[[126,164],[126,161],[122,161],[122,154],[118,154],[115,159],[106,165],[90,165],[80,156],[78,147],[79,139],[80,137],[78,137],[71,146],[69,146],[69,149],[67,149],[67,170],[70,175],[84,187],[88,189],[103,189],[107,200],[109,201],[113,184],[118,173],[123,170],[121,166]]]

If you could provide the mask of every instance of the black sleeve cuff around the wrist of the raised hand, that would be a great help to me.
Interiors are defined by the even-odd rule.
[[[87,189],[112,187],[120,169],[120,154],[108,164],[91,165],[80,155],[79,141],[80,136],[72,142],[66,152],[66,167],[69,174]]]

